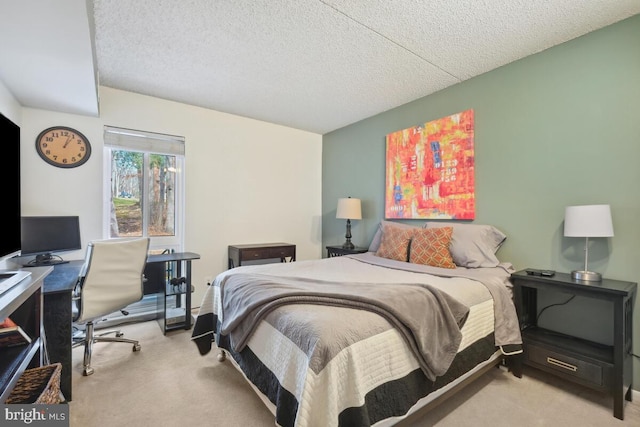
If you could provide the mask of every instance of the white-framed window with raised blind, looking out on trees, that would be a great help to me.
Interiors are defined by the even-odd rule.
[[[105,126],[104,235],[182,251],[184,138]]]

